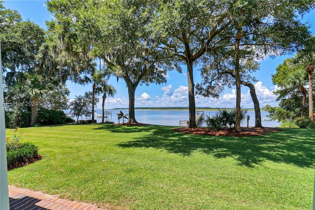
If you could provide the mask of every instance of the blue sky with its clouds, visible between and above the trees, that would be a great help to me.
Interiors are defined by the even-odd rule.
[[[3,5],[6,8],[17,10],[23,20],[29,19],[44,29],[46,29],[45,21],[53,18],[47,10],[45,0],[4,0]],[[314,17],[315,10],[303,17],[303,22],[309,22],[311,24],[313,34],[315,32]],[[260,107],[266,104],[272,106],[278,105],[276,96],[272,93],[273,90],[276,90],[276,87],[272,84],[271,75],[276,73],[276,67],[288,57],[290,57],[290,55],[262,60],[260,61],[260,70],[253,73],[258,80],[258,82],[254,84]],[[183,66],[182,74],[175,71],[168,72],[166,84],[151,84],[149,87],[139,86],[135,92],[135,107],[188,107],[188,81],[185,72],[186,66]],[[198,68],[195,67],[194,83],[196,84],[200,81],[201,77]],[[125,81],[120,79],[117,82],[116,78],[111,78],[108,83],[116,88],[117,94],[112,98],[109,97],[106,99],[105,107],[107,109],[128,107],[128,92]],[[73,99],[75,95],[83,95],[85,91],[92,90],[92,85],[81,86],[71,82],[67,82],[67,87],[71,91],[69,96],[70,100]],[[219,99],[204,98],[196,95],[197,107],[234,107],[235,101],[235,90],[227,88]],[[249,89],[243,86],[241,104],[246,108],[253,108]],[[101,105],[98,104],[97,107],[101,108]]]

